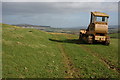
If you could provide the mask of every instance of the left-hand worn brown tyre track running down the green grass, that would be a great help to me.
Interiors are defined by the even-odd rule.
[[[57,36],[55,37],[57,39]],[[70,57],[68,57],[67,53],[65,52],[63,43],[57,43],[57,45],[63,57],[62,59],[64,67],[67,69],[65,70],[65,73],[67,74],[65,78],[80,78],[80,70],[74,66],[72,60]]]

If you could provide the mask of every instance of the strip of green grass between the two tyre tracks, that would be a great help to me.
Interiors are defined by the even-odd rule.
[[[72,47],[70,47],[70,44],[66,44],[65,46],[66,52],[74,61],[75,66],[80,68],[80,75],[82,77],[115,78],[117,76],[115,71],[110,70],[103,62],[99,61],[97,57],[94,57],[81,47],[77,45],[72,45]],[[68,49],[72,49],[72,51],[69,51]]]

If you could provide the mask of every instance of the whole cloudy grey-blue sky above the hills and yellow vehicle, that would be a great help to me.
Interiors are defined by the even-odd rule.
[[[3,23],[46,25],[55,28],[83,27],[89,25],[91,11],[100,11],[110,15],[109,25],[118,24],[118,0],[114,2],[113,0],[110,2],[105,2],[105,0],[98,0],[98,2],[94,0],[86,2],[21,1],[2,1]]]

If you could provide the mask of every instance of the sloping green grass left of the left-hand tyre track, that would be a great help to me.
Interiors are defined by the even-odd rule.
[[[3,25],[3,77],[64,77],[62,56],[50,37],[39,30]]]

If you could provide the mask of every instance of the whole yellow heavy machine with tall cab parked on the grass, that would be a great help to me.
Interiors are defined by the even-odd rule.
[[[108,18],[109,15],[106,13],[91,12],[90,24],[87,29],[80,30],[79,39],[89,44],[101,42],[105,45],[109,45]]]

